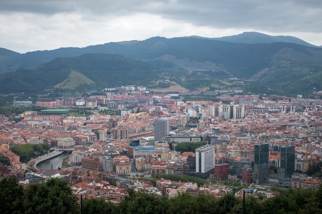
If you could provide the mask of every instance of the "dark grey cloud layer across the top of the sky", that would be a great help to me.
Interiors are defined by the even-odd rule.
[[[319,0],[8,0],[1,2],[0,11],[44,15],[79,13],[86,18],[146,13],[196,26],[275,32],[319,32],[322,27],[322,1]]]

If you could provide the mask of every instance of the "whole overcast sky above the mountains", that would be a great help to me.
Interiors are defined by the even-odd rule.
[[[0,0],[0,47],[19,53],[256,31],[322,45],[321,0]]]

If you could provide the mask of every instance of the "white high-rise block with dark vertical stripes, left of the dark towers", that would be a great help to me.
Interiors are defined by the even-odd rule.
[[[204,145],[195,149],[195,172],[198,177],[206,178],[213,173],[214,168],[214,146]]]

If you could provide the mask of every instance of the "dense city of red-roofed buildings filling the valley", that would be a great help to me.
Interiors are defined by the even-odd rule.
[[[129,188],[168,198],[183,191],[221,197],[239,183],[253,185],[249,194],[270,198],[278,194],[274,187],[320,186],[321,100],[221,93],[219,102],[183,101],[182,94],[149,93],[142,86],[104,91],[34,104],[14,101],[46,109],[13,120],[0,116],[0,151],[10,160],[10,166],[1,166],[1,177],[24,185],[60,178],[78,197],[114,202]],[[75,116],[73,108],[91,114]],[[112,110],[117,115],[104,114]],[[198,142],[193,150],[180,149]],[[15,145],[44,143],[51,150],[30,160],[11,151]],[[62,153],[69,156],[58,166],[37,168]],[[172,181],[163,178],[167,174],[207,183]],[[151,178],[160,179],[153,185]],[[234,191],[236,197],[243,197],[242,191]]]

